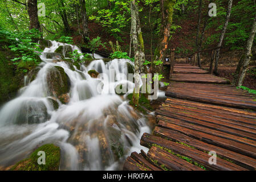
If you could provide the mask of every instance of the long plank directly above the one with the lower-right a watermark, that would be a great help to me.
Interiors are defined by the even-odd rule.
[[[165,138],[167,137],[168,139],[174,140],[174,142],[182,142],[188,144],[189,146],[197,148],[197,150],[206,152],[215,151],[218,156],[221,156],[222,158],[227,158],[232,162],[238,164],[239,166],[245,167],[249,170],[256,169],[256,160],[253,158],[249,158],[245,155],[241,155],[218,146],[213,146],[212,144],[208,144],[200,140],[191,138],[175,130],[171,130],[170,132],[168,131],[170,130],[162,127],[156,127],[156,129],[154,130],[154,135]]]

